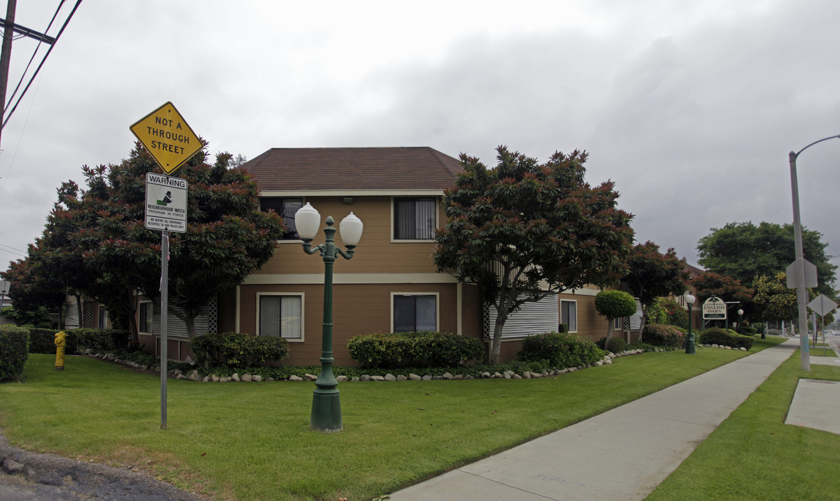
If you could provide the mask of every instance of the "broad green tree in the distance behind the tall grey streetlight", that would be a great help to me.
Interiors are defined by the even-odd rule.
[[[826,248],[822,233],[802,228],[802,250],[805,258],[816,265],[817,290],[834,297],[837,266],[828,262]],[[748,289],[754,289],[756,277],[775,276],[794,262],[793,225],[730,222],[722,228],[711,228],[711,233],[697,243],[697,252],[698,262],[707,270],[738,279]]]

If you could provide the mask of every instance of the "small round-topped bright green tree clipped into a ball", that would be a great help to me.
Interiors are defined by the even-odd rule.
[[[642,321],[638,327],[638,339],[642,341],[644,321],[648,308],[658,297],[681,295],[687,289],[691,276],[685,269],[685,258],[677,258],[674,248],[666,253],[659,252],[659,245],[648,240],[633,246],[627,258],[627,275],[624,283],[627,290],[636,296],[642,305]]]

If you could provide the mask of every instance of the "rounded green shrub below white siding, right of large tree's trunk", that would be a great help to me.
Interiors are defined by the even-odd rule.
[[[526,337],[517,358],[522,362],[548,361],[553,368],[580,367],[601,360],[604,352],[594,342],[574,334],[549,332]]]

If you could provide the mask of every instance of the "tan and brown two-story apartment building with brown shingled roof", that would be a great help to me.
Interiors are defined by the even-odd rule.
[[[197,331],[280,336],[289,342],[284,363],[315,365],[321,355],[323,260],[307,255],[295,231],[295,213],[311,204],[325,220],[351,211],[364,224],[354,257],[333,268],[333,355],[353,365],[346,343],[370,332],[448,331],[489,343],[495,312],[480,290],[438,273],[435,229],[445,224],[440,202],[460,171],[458,159],[431,148],[270,149],[244,164],[260,185],[260,206],[283,217],[289,232],[273,258],[234,290],[208,305]],[[336,244],[342,245],[339,234]],[[323,232],[312,242],[323,243]],[[584,288],[528,303],[511,316],[501,360],[512,359],[524,337],[559,324],[593,340],[606,335],[595,295]],[[140,342],[160,353],[160,307],[140,298]],[[191,355],[181,321],[169,317],[170,357]],[[620,322],[619,322],[620,323]],[[622,328],[622,326],[619,326]]]

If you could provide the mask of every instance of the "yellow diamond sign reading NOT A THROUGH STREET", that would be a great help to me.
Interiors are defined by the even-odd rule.
[[[202,142],[171,102],[131,126],[140,143],[166,174],[172,174],[202,149]]]

